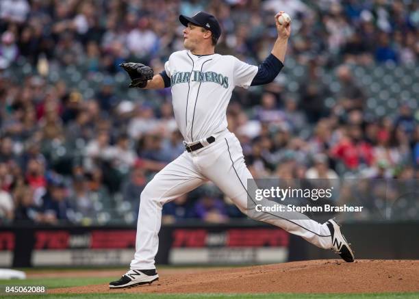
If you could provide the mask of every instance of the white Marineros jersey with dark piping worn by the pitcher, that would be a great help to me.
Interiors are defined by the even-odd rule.
[[[177,51],[164,65],[172,86],[173,111],[186,142],[196,142],[227,128],[227,105],[236,86],[249,88],[257,73],[231,55],[196,56]]]

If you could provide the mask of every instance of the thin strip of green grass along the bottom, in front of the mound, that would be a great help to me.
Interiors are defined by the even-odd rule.
[[[396,298],[418,298],[419,293],[388,293],[388,294],[52,294],[52,295],[15,295],[10,298],[35,299],[35,298],[87,298],[87,299],[222,299],[222,298],[245,298],[245,299],[322,299],[322,298],[342,298],[342,299],[396,299]]]

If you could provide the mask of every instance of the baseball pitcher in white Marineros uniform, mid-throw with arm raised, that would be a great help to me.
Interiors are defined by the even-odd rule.
[[[144,64],[121,64],[131,77],[129,87],[171,88],[173,111],[186,151],[157,173],[141,193],[136,253],[128,272],[110,283],[111,288],[152,283],[158,279],[154,259],[164,203],[210,180],[247,214],[247,180],[252,176],[244,164],[240,142],[227,129],[227,105],[236,86],[249,88],[270,83],[283,68],[291,24],[280,24],[281,14],[283,12],[275,16],[277,40],[270,55],[259,66],[246,64],[231,55],[214,53],[221,28],[216,18],[206,12],[192,17],[179,16],[185,26],[186,50],[170,55],[162,73],[153,75],[153,70]],[[299,219],[279,215],[262,218],[262,221],[299,235],[320,248],[335,250],[345,261],[354,261],[353,251],[335,220],[320,224],[303,215]]]

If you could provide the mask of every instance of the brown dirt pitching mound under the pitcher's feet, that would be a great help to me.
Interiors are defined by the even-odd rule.
[[[96,272],[97,274],[97,272]],[[108,273],[109,274],[109,273]],[[86,285],[49,293],[383,293],[419,291],[419,261],[299,261],[219,270],[162,270],[160,281],[130,289]],[[115,277],[118,278],[118,277]]]

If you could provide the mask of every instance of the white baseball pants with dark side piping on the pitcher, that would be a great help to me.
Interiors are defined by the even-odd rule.
[[[140,196],[136,253],[131,261],[131,269],[155,268],[154,258],[159,246],[157,234],[164,203],[210,180],[233,200],[240,211],[247,214],[247,179],[252,179],[252,176],[244,164],[242,146],[236,135],[227,130],[217,136],[214,143],[192,153],[185,151],[155,174]],[[299,235],[320,248],[331,248],[330,231],[326,224],[310,220],[303,214],[298,219],[281,218],[280,214],[278,218],[272,215],[267,215],[266,219],[263,216],[257,218]]]

